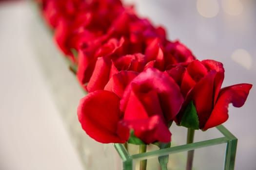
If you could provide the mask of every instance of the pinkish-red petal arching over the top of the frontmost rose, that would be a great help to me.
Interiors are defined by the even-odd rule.
[[[120,101],[120,109],[125,110],[129,101],[132,84],[140,86],[141,92],[156,90],[166,121],[173,119],[179,111],[183,102],[180,89],[175,81],[167,74],[155,68],[148,68],[141,72],[131,81],[124,91],[123,98]]]

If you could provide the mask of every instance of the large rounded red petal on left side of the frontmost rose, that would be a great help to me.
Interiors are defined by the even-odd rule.
[[[80,100],[78,118],[81,126],[98,142],[124,143],[128,139],[117,135],[118,121],[121,116],[119,98],[112,92],[97,90]],[[129,136],[129,134],[123,136],[125,135]]]

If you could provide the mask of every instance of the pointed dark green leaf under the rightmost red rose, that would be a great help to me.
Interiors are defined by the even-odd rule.
[[[181,119],[180,125],[187,128],[199,129],[199,120],[197,117],[197,110],[193,101],[191,101],[186,107],[184,115]]]

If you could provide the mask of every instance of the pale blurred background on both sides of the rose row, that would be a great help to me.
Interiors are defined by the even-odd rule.
[[[256,0],[124,2],[135,4],[141,17],[164,26],[169,39],[179,39],[199,60],[222,62],[223,87],[256,85]],[[31,1],[0,0],[0,170],[82,170],[54,99],[65,89],[49,88],[48,78],[57,84],[74,79],[74,85],[66,83],[78,89],[76,95],[69,94],[75,100],[66,103],[71,106],[68,112],[76,112],[83,94],[42,22]],[[39,55],[54,57],[52,63],[61,72],[47,73]],[[66,98],[62,100],[65,105]],[[238,138],[236,170],[256,170],[255,100],[253,87],[243,107],[230,105],[230,118],[224,123]],[[76,116],[65,119],[72,119],[69,126],[78,124]]]

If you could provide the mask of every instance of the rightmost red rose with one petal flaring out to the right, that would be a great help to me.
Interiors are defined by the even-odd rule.
[[[191,111],[195,106],[198,117],[196,127],[203,130],[225,122],[228,119],[228,104],[233,103],[235,107],[241,107],[252,87],[249,84],[239,84],[220,89],[224,68],[220,62],[214,60],[194,60],[177,65],[167,72],[176,80],[185,98],[177,115],[177,123],[186,121],[187,107]],[[189,122],[185,124],[190,127]]]

